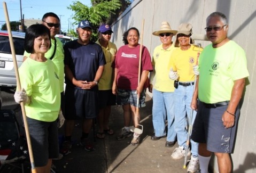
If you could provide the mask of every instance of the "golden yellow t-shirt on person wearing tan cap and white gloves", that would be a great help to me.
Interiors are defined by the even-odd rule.
[[[190,48],[185,51],[182,51],[181,48],[177,48],[173,51],[170,58],[170,67],[173,68],[173,71],[177,71],[180,82],[195,80],[193,65],[196,65],[198,53],[201,51],[203,51],[203,48],[199,48],[195,45],[191,45]]]

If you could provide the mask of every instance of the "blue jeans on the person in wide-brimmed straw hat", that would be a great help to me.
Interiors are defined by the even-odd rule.
[[[174,130],[174,92],[159,92],[153,89],[153,126],[155,136],[166,135],[165,120],[167,116],[167,141],[175,141]]]

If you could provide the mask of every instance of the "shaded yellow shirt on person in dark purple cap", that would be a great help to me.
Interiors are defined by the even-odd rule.
[[[97,40],[96,43],[100,45],[99,40]],[[115,53],[117,53],[117,46],[115,46],[115,44],[112,42],[108,42],[107,47],[102,46],[102,51],[105,55],[106,64],[104,65],[104,71],[102,73],[102,77],[99,80],[98,87],[99,87],[99,90],[109,90],[109,89],[112,89],[112,84],[113,84],[112,63],[115,60]]]

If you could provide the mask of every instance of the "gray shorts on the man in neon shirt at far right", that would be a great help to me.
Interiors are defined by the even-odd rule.
[[[231,153],[234,146],[240,109],[238,106],[235,113],[235,125],[232,128],[225,129],[222,115],[227,110],[227,107],[228,105],[206,108],[204,103],[199,102],[191,139],[198,143],[206,143],[208,151]]]

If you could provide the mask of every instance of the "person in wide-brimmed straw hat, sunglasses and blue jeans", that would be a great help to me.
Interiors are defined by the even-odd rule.
[[[176,33],[177,31],[172,30],[166,21],[161,23],[160,30],[153,32],[154,36],[159,36],[162,44],[154,48],[153,71],[150,73],[149,92],[153,93],[152,114],[154,127],[154,135],[151,136],[151,140],[157,141],[167,136],[166,147],[174,146],[176,140],[174,131],[174,81],[168,78],[170,55],[175,49],[172,37]],[[166,117],[168,121],[167,132],[165,130]]]

